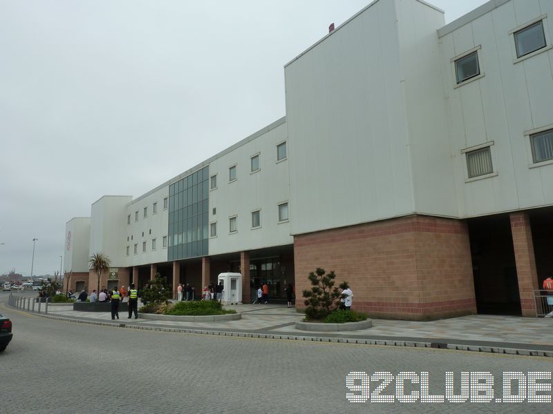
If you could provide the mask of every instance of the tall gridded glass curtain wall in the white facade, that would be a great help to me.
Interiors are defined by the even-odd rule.
[[[209,166],[169,186],[169,260],[208,254]]]

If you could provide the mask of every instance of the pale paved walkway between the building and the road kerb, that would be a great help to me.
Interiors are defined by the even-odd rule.
[[[115,321],[115,324],[127,328],[216,335],[432,346],[553,357],[553,318],[471,315],[432,322],[373,319],[372,328],[343,333],[317,333],[297,330],[294,323],[301,320],[303,315],[284,305],[243,304],[227,307],[242,313],[242,319],[228,322],[174,322],[141,319],[140,313],[138,319],[127,319],[126,314],[121,313],[121,319]],[[113,324],[108,312],[77,312],[68,306],[50,305],[48,316]]]

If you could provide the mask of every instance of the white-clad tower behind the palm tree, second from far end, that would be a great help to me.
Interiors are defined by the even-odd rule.
[[[131,200],[126,195],[105,195],[92,205],[89,256],[104,253],[111,267],[124,266],[120,238],[125,234],[126,204]]]

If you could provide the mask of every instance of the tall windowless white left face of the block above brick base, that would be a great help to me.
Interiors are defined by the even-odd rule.
[[[285,67],[292,234],[413,212],[395,1]]]

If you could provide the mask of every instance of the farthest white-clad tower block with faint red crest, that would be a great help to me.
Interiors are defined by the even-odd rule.
[[[74,217],[65,226],[64,273],[88,272],[91,218]]]

